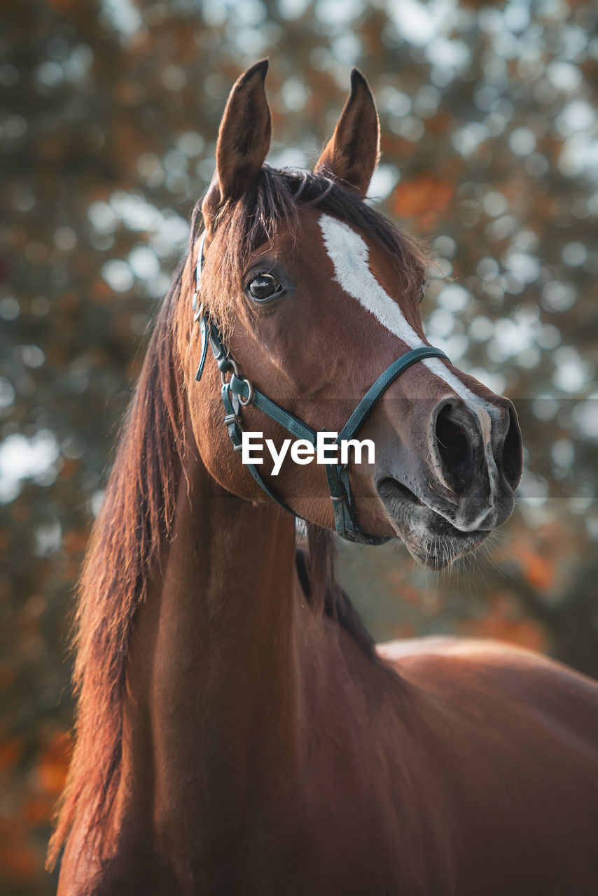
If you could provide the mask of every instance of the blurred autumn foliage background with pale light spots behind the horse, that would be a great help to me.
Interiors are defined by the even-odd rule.
[[[576,0],[13,0],[0,27],[0,891],[44,894],[72,719],[68,612],[144,335],[212,177],[232,82],[271,57],[273,165],[308,167],[352,65],[372,201],[425,237],[429,338],[516,401],[525,473],[438,577],[342,547],[379,640],[455,632],[598,675],[598,7]]]

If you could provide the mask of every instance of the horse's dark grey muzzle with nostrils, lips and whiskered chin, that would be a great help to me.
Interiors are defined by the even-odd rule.
[[[438,569],[512,513],[522,470],[516,411],[504,398],[489,405],[448,396],[428,418],[412,415],[399,436],[381,459],[377,495],[412,556]]]

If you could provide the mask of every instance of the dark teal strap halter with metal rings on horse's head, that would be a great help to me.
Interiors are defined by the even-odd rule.
[[[316,430],[312,429],[299,418],[294,417],[288,410],[281,408],[275,401],[269,399],[263,392],[260,392],[246,376],[239,373],[237,362],[230,357],[229,350],[225,347],[224,341],[218,324],[204,314],[204,306],[198,304],[199,284],[204,267],[204,241],[205,231],[202,234],[197,250],[197,267],[195,270],[195,289],[193,293],[192,305],[194,311],[194,320],[199,323],[199,329],[202,336],[202,349],[199,359],[199,366],[195,375],[195,380],[199,383],[204,373],[205,359],[207,356],[208,344],[212,349],[212,354],[218,365],[221,374],[221,399],[224,405],[225,416],[224,424],[228,429],[230,441],[235,451],[240,451],[243,439],[243,426],[240,418],[242,408],[247,408],[252,404],[254,407],[262,410],[269,418],[283,426],[291,435],[295,435],[299,439],[306,439],[312,445],[316,445]],[[380,396],[386,392],[386,389],[397,376],[401,375],[408,367],[415,364],[416,361],[422,361],[424,358],[446,358],[444,351],[435,349],[432,346],[422,346],[420,349],[412,349],[408,351],[402,358],[386,367],[384,373],[378,376],[376,382],[371,385],[368,392],[363,396],[357,408],[352,412],[351,417],[342,427],[341,432],[337,435],[336,441],[327,445],[330,449],[334,446],[338,448],[338,443],[343,440],[351,439],[365,420],[368,418],[372,409]],[[226,375],[230,374],[230,379],[226,379]],[[325,432],[325,430],[323,430]],[[272,489],[266,484],[259,470],[254,463],[245,464],[257,485],[262,488],[266,495],[272,498],[276,504],[298,516],[288,504],[285,504],[276,495]],[[348,464],[328,463],[325,465],[326,477],[328,479],[328,488],[333,503],[334,525],[337,533],[341,538],[347,541],[359,542],[362,545],[382,545],[389,538],[381,538],[374,535],[366,535],[360,530],[355,521],[356,508],[351,498],[351,482],[349,479]]]

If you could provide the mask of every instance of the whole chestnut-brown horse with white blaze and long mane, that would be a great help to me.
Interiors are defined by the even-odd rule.
[[[360,73],[299,174],[264,165],[265,70],[230,94],[92,538],[59,892],[597,892],[598,687],[494,642],[376,651],[334,586],[334,524],[437,569],[479,545],[521,445],[509,401],[433,349],[394,376],[427,346],[425,259],[363,201]],[[280,451],[273,401],[296,435],[360,403],[375,458],[335,479],[290,458],[273,476],[264,454],[252,477],[234,447],[244,428]],[[308,521],[299,563],[276,501]]]

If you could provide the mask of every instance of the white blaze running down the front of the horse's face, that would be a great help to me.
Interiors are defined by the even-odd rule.
[[[369,268],[369,248],[359,233],[343,221],[322,215],[319,225],[324,236],[326,252],[334,264],[336,280],[342,289],[356,298],[360,306],[369,314],[373,314],[386,330],[403,340],[410,349],[419,349],[425,342],[407,323],[401,308],[391,298],[386,289],[378,283]],[[446,385],[457,393],[464,401],[472,402],[480,408],[486,406],[479,395],[474,395],[461,380],[448,370],[440,358],[425,358],[420,362],[429,371],[444,380]],[[481,421],[482,422],[482,421]],[[484,427],[487,428],[487,427]],[[488,437],[489,433],[484,433]]]

